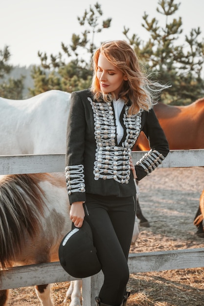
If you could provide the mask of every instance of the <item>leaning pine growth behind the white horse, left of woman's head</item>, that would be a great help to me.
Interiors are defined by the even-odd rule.
[[[111,25],[111,19],[101,22],[102,14],[100,4],[90,5],[90,10],[85,10],[84,15],[78,17],[85,30],[81,35],[72,34],[69,45],[61,44],[63,53],[59,52],[56,56],[51,54],[49,62],[46,53],[38,52],[41,67],[35,66],[32,71],[35,84],[33,89],[30,88],[32,95],[54,88],[71,92],[90,86],[91,58],[96,49],[95,34]]]

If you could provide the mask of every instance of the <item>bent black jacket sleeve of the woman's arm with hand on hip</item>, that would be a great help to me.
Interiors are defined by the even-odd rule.
[[[154,109],[144,112],[145,123],[142,128],[149,140],[150,151],[136,163],[137,180],[155,170],[169,153],[169,145]]]

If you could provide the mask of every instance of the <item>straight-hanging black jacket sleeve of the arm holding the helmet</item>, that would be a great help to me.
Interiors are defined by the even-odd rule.
[[[86,119],[81,96],[71,94],[70,110],[67,122],[67,147],[65,176],[70,204],[85,201],[84,148]]]

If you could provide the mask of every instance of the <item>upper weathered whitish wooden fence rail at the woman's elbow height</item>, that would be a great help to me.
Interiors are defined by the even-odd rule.
[[[144,151],[133,152],[133,161],[136,162],[144,153]],[[204,149],[172,150],[160,167],[180,168],[196,166],[204,167]],[[65,154],[0,156],[0,175],[64,171]]]

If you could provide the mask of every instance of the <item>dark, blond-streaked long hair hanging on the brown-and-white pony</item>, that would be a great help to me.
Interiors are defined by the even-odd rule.
[[[38,175],[4,175],[0,180],[0,265],[12,266],[26,235],[39,231],[45,194]]]

